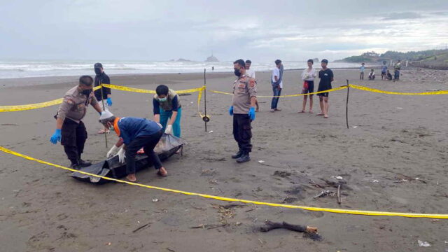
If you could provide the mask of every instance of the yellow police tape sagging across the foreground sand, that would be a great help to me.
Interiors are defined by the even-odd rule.
[[[144,184],[141,184],[141,183],[133,183],[133,182],[129,182],[129,181],[123,181],[123,180],[120,180],[120,179],[109,178],[109,177],[106,177],[106,176],[99,176],[97,174],[90,174],[88,172],[80,172],[80,171],[78,171],[76,169],[71,169],[71,168],[68,168],[68,167],[63,167],[62,165],[55,165],[55,164],[52,164],[50,162],[45,162],[43,160],[38,160],[36,158],[31,158],[31,157],[29,157],[27,155],[23,155],[23,154],[15,152],[15,151],[11,151],[10,149],[4,148],[2,146],[0,146],[0,151],[3,151],[4,153],[8,153],[8,154],[11,154],[11,155],[18,156],[20,158],[25,158],[27,160],[39,162],[39,163],[44,164],[44,165],[50,165],[52,167],[65,169],[65,170],[68,170],[70,172],[78,172],[80,174],[85,174],[85,175],[88,175],[88,176],[94,176],[94,177],[101,178],[101,179],[106,179],[106,180],[109,180],[109,181],[116,181],[118,183],[127,183],[128,185],[131,185],[131,186],[140,186],[142,188],[163,190],[165,192],[170,192],[170,193],[181,193],[183,195],[199,196],[199,197],[204,197],[204,198],[213,199],[213,200],[221,200],[221,201],[225,201],[225,202],[241,202],[241,203],[246,203],[246,204],[258,204],[258,205],[264,205],[264,206],[269,206],[269,207],[284,207],[284,208],[289,208],[289,209],[303,209],[303,210],[308,210],[308,211],[326,211],[326,212],[335,213],[335,214],[356,214],[356,215],[365,215],[365,216],[401,216],[401,217],[408,217],[408,218],[448,219],[448,214],[413,214],[413,213],[397,213],[397,212],[386,212],[386,211],[363,211],[363,210],[349,210],[349,209],[330,209],[330,208],[322,208],[322,207],[302,207],[302,206],[290,205],[290,204],[277,204],[277,203],[269,203],[269,202],[257,202],[257,201],[253,201],[253,200],[239,200],[239,199],[234,199],[234,198],[230,198],[230,197],[220,197],[220,196],[214,196],[214,195],[206,195],[206,194],[202,194],[202,193],[190,193],[190,192],[186,192],[186,191],[183,191],[183,190],[161,188],[161,187],[158,187],[158,186],[148,186],[148,185],[144,185]]]

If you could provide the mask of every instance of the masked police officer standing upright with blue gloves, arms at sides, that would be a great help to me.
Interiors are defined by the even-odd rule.
[[[251,122],[255,120],[255,102],[257,100],[257,83],[254,78],[246,76],[246,63],[243,59],[233,62],[235,75],[238,77],[233,83],[233,99],[229,114],[233,116],[233,137],[238,143],[239,151],[232,155],[237,162],[251,160],[252,151]]]

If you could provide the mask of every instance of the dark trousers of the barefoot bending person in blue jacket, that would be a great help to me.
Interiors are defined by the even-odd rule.
[[[162,167],[162,162],[160,162],[159,156],[154,152],[154,147],[160,141],[160,137],[162,137],[162,130],[149,136],[137,137],[126,146],[127,174],[135,173],[135,156],[137,155],[137,151],[139,151],[142,147],[145,154],[148,155],[151,162],[153,162],[154,168],[160,169]]]

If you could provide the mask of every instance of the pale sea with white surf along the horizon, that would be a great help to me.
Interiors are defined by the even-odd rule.
[[[78,61],[0,61],[0,78],[27,78],[40,76],[81,76],[93,75],[95,62]],[[139,73],[200,73],[204,69],[211,72],[232,72],[232,62],[102,62],[104,71],[110,75]],[[320,67],[320,63],[314,63]],[[304,69],[307,62],[283,62],[285,69]],[[330,62],[332,69],[358,67],[357,63]],[[255,71],[267,71],[274,67],[274,62],[253,62]]]

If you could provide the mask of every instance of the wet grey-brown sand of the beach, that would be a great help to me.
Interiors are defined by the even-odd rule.
[[[301,92],[301,71],[286,71],[283,94]],[[209,73],[207,86],[230,92],[231,73]],[[335,70],[333,87],[367,85],[397,92],[447,90],[447,72],[403,70],[398,83],[358,81],[357,70]],[[257,73],[260,95],[271,95],[270,73]],[[378,78],[379,76],[377,76]],[[76,77],[0,80],[0,105],[31,104],[62,97]],[[113,76],[113,84],[174,90],[203,85],[202,74]],[[29,85],[29,84],[39,85]],[[4,86],[3,86],[4,85]],[[28,85],[28,86],[25,86]],[[315,89],[317,90],[317,83]],[[181,97],[184,155],[167,160],[169,176],[153,169],[140,183],[247,200],[313,207],[448,214],[446,95],[398,96],[350,90],[330,93],[330,118],[297,113],[302,97],[281,98],[281,112],[269,112],[260,98],[253,123],[252,161],[237,165],[228,116],[231,97],[207,93],[211,122],[197,116],[197,94]],[[117,116],[152,118],[152,97],[113,90]],[[58,165],[69,165],[62,146],[50,144],[57,106],[0,113],[1,146]],[[84,120],[89,138],[83,158],[97,162],[108,149],[92,108]],[[109,145],[116,136],[108,135]],[[0,245],[3,251],[444,251],[448,222],[387,216],[353,216],[241,204],[223,211],[200,197],[136,186],[103,186],[76,181],[62,169],[0,153]],[[264,163],[258,160],[265,161]],[[314,199],[325,183],[342,176],[342,204],[336,197]],[[419,178],[418,180],[416,178]],[[316,188],[310,181],[326,186]],[[377,181],[377,182],[376,182]],[[158,202],[153,202],[158,199]],[[288,230],[257,227],[287,221],[317,227],[323,241]],[[225,227],[192,229],[229,223]],[[148,225],[146,225],[148,224]],[[145,226],[144,226],[145,225]],[[137,230],[138,228],[144,226]],[[432,247],[420,248],[417,240]]]

